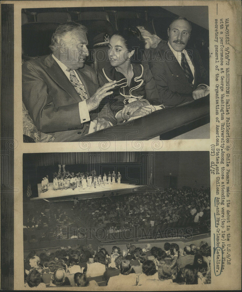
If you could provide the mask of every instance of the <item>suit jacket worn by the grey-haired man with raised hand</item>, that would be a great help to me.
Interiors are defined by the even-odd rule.
[[[84,65],[76,72],[91,97],[98,89],[96,71]],[[38,130],[54,135],[54,142],[87,132],[87,123],[80,122],[78,103],[82,99],[52,55],[22,65],[22,98]]]

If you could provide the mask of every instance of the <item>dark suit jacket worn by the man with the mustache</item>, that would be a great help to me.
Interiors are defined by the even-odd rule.
[[[202,65],[198,51],[195,48],[186,48],[186,51],[195,70],[193,88],[168,44],[158,44],[151,53],[149,67],[155,79],[160,100],[164,105],[174,106],[192,101],[192,91],[199,84],[209,84],[208,74]]]

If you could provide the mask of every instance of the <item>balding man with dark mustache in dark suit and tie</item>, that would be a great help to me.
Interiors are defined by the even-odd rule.
[[[209,78],[200,55],[195,48],[186,47],[190,34],[190,22],[177,17],[169,25],[168,43],[158,44],[151,53],[149,67],[164,105],[179,105],[209,94]]]

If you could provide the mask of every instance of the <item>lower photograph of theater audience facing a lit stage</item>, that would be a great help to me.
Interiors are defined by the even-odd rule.
[[[206,151],[23,154],[25,287],[211,284],[209,163]]]

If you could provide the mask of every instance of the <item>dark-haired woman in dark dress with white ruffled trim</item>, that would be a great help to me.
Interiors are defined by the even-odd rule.
[[[137,59],[144,44],[136,27],[118,31],[110,38],[110,65],[99,72],[98,79],[101,86],[113,80],[117,82],[112,95],[103,100],[107,103],[98,114],[97,131],[161,108],[149,66],[132,62]]]

